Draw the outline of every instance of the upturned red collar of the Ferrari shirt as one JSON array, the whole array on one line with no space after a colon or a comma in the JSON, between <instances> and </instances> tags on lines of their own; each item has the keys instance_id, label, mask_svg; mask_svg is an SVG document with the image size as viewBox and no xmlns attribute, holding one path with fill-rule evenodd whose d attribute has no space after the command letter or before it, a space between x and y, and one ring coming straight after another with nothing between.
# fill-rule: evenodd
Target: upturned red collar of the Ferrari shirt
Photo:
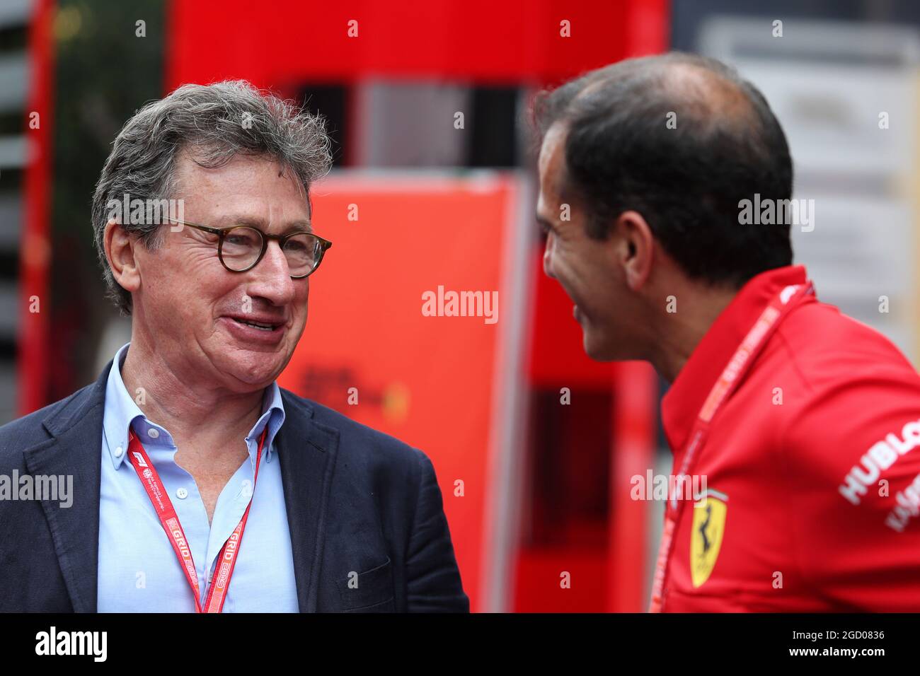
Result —
<instances>
[{"instance_id":1,"label":"upturned red collar of the Ferrari shirt","mask_svg":"<svg viewBox=\"0 0 920 676\"><path fill-rule=\"evenodd\" d=\"M801 265L761 272L742 286L709 327L661 399L661 424L674 453L683 452L709 391L757 317L784 287L805 281Z\"/></svg>"}]
</instances>

